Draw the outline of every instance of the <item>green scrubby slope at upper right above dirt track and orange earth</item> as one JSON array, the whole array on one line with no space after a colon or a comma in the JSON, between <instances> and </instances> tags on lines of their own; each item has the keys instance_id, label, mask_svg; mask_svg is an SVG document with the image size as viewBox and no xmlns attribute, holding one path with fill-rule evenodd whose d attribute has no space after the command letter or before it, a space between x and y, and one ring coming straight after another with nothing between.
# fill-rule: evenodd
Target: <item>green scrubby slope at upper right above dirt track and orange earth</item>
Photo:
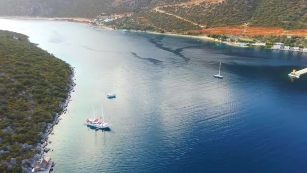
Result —
<instances>
[{"instance_id":1,"label":"green scrubby slope at upper right above dirt track and orange earth","mask_svg":"<svg viewBox=\"0 0 307 173\"><path fill-rule=\"evenodd\" d=\"M307 28L307 2L303 0L228 0L162 10L208 26L250 26Z\"/></svg>"}]
</instances>

